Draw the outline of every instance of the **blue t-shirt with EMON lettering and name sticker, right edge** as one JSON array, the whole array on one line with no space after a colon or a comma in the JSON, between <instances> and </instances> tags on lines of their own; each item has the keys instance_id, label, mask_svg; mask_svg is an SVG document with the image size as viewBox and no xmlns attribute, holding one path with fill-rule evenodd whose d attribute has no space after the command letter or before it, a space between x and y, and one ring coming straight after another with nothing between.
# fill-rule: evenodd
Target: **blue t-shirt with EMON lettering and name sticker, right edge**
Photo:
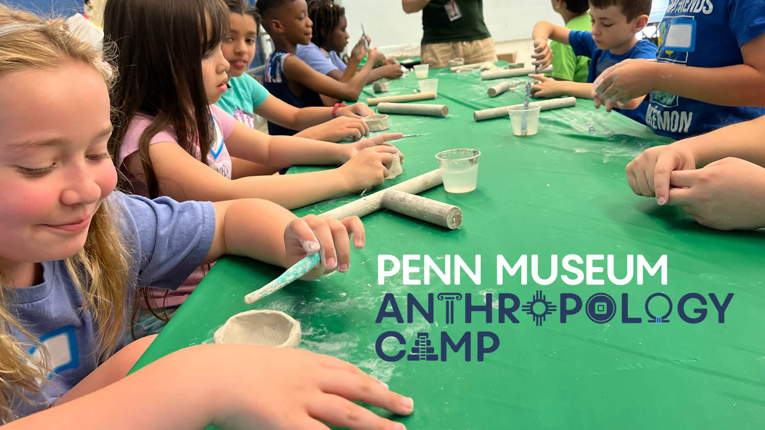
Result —
<instances>
[{"instance_id":1,"label":"blue t-shirt with EMON lettering and name sticker, right edge","mask_svg":"<svg viewBox=\"0 0 765 430\"><path fill-rule=\"evenodd\" d=\"M741 45L763 33L763 0L672 0L659 24L657 59L691 67L744 64ZM649 97L646 124L672 138L700 135L765 115L765 108L719 106L661 91Z\"/></svg>"}]
</instances>

